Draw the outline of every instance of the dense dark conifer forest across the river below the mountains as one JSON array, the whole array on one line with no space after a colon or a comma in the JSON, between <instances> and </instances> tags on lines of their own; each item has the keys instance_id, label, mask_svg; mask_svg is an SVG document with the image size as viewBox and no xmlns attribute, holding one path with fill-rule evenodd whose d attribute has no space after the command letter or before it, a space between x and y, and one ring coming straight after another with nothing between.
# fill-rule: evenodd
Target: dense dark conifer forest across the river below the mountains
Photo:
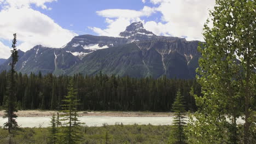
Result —
<instances>
[{"instance_id":1,"label":"dense dark conifer forest across the river below the mountains","mask_svg":"<svg viewBox=\"0 0 256 144\"><path fill-rule=\"evenodd\" d=\"M201 87L196 80L136 79L129 76L54 76L52 74L30 75L16 73L16 102L19 110L42 109L60 110L62 99L67 95L68 82L74 79L80 105L78 110L119 110L119 111L170 111L177 91L184 96L187 110L196 110L193 87L200 95ZM5 101L8 72L0 74L0 106Z\"/></svg>"}]
</instances>

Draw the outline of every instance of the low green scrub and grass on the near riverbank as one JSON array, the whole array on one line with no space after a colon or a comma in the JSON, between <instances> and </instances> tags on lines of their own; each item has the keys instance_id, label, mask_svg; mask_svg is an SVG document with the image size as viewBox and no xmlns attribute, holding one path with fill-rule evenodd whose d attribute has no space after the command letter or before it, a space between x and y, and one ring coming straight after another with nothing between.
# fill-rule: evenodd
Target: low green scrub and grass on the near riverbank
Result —
<instances>
[{"instance_id":1,"label":"low green scrub and grass on the near riverbank","mask_svg":"<svg viewBox=\"0 0 256 144\"><path fill-rule=\"evenodd\" d=\"M166 143L171 126L166 125L115 125L103 124L103 127L80 127L80 143ZM106 136L108 135L108 136ZM0 129L0 143L8 143L8 130ZM11 135L12 143L47 143L49 128L20 128ZM107 137L107 139L106 139Z\"/></svg>"}]
</instances>

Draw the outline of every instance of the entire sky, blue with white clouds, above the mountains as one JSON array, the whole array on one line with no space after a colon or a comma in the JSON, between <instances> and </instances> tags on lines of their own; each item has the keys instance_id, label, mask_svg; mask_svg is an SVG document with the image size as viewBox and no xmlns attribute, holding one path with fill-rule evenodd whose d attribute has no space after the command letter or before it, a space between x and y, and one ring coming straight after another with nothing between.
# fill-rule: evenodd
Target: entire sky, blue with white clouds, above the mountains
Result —
<instances>
[{"instance_id":1,"label":"entire sky, blue with white clouds, above the mountains","mask_svg":"<svg viewBox=\"0 0 256 144\"><path fill-rule=\"evenodd\" d=\"M10 56L13 33L22 51L59 48L75 35L119 37L138 21L156 35L203 40L213 6L214 0L0 0L0 58Z\"/></svg>"}]
</instances>

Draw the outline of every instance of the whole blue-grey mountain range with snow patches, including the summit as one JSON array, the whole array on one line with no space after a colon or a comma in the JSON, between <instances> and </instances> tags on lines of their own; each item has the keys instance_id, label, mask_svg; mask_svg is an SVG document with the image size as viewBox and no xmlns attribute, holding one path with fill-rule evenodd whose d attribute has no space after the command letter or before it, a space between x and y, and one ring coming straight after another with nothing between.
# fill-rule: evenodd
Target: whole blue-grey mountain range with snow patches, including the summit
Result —
<instances>
[{"instance_id":1,"label":"whole blue-grey mountain range with snow patches, including the summit","mask_svg":"<svg viewBox=\"0 0 256 144\"><path fill-rule=\"evenodd\" d=\"M158 36L142 22L131 23L120 37L79 35L60 48L34 46L19 52L16 70L55 75L119 75L193 79L198 67L199 41ZM0 71L8 69L8 59Z\"/></svg>"}]
</instances>

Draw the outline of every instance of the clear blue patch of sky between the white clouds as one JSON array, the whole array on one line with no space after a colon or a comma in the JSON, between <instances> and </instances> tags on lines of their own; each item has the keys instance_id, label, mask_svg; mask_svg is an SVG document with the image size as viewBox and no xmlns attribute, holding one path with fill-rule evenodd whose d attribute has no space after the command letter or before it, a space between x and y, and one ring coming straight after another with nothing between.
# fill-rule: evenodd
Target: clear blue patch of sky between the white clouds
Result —
<instances>
[{"instance_id":1,"label":"clear blue patch of sky between the white clouds","mask_svg":"<svg viewBox=\"0 0 256 144\"><path fill-rule=\"evenodd\" d=\"M70 29L75 33L80 34L93 34L97 35L94 31L88 27L107 28L105 18L98 16L96 11L104 9L132 9L141 10L145 5L154 7L155 4L149 1L143 3L139 0L59 0L57 2L46 3L47 7L52 8L51 10L41 9L32 5L32 8L40 11L45 15L48 15L56 23L61 25L63 28ZM155 13L152 16L144 16L143 20L146 21L158 21L161 19L160 13Z\"/></svg>"}]
</instances>

